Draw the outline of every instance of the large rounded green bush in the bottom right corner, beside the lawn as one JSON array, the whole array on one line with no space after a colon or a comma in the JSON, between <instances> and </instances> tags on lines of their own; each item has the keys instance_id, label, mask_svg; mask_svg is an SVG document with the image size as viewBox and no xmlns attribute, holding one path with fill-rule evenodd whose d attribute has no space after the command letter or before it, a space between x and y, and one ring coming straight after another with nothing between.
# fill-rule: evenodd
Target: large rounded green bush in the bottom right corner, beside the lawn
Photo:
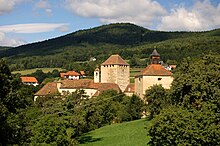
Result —
<instances>
[{"instance_id":1,"label":"large rounded green bush in the bottom right corner, beside the lawn","mask_svg":"<svg viewBox=\"0 0 220 146\"><path fill-rule=\"evenodd\" d=\"M220 145L219 115L205 105L202 110L171 106L163 109L148 127L150 146Z\"/></svg>"}]
</instances>

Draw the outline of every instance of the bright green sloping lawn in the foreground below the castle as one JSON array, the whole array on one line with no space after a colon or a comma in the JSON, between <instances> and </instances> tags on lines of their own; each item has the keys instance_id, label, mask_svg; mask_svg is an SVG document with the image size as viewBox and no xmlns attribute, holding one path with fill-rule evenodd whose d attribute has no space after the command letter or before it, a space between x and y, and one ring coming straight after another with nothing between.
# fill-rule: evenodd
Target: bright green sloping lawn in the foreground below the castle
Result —
<instances>
[{"instance_id":1,"label":"bright green sloping lawn in the foreground below the castle","mask_svg":"<svg viewBox=\"0 0 220 146\"><path fill-rule=\"evenodd\" d=\"M108 125L80 137L80 146L146 146L145 119Z\"/></svg>"}]
</instances>

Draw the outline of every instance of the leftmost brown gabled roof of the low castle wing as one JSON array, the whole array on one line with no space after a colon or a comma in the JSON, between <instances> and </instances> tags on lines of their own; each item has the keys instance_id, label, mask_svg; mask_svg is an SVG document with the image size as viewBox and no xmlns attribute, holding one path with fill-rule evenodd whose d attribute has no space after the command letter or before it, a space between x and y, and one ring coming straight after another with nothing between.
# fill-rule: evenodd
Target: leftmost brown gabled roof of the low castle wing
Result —
<instances>
[{"instance_id":1,"label":"leftmost brown gabled roof of the low castle wing","mask_svg":"<svg viewBox=\"0 0 220 146\"><path fill-rule=\"evenodd\" d=\"M55 94L55 93L58 93L57 84L55 82L48 82L34 95L35 96L46 96L46 95Z\"/></svg>"}]
</instances>

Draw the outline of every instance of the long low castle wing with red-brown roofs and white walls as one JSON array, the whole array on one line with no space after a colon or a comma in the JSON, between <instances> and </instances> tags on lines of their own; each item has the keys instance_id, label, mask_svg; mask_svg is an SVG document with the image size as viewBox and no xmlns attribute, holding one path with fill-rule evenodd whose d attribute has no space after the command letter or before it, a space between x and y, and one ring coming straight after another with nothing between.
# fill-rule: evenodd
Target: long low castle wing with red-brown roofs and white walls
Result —
<instances>
[{"instance_id":1,"label":"long low castle wing with red-brown roofs and white walls","mask_svg":"<svg viewBox=\"0 0 220 146\"><path fill-rule=\"evenodd\" d=\"M73 93L76 90L84 90L84 95L87 95L89 98L98 96L106 90L116 90L118 93L121 92L119 86L115 83L95 83L92 79L60 80L58 82L47 83L35 94L34 100L36 101L39 96L51 94L65 95Z\"/></svg>"}]
</instances>

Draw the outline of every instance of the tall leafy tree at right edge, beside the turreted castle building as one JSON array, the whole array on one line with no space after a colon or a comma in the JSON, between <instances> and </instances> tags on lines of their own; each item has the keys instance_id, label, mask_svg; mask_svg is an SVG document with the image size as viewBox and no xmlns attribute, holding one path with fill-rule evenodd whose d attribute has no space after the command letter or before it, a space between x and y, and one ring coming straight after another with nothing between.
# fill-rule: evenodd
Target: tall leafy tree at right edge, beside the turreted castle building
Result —
<instances>
[{"instance_id":1,"label":"tall leafy tree at right edge, beside the turreted castle building","mask_svg":"<svg viewBox=\"0 0 220 146\"><path fill-rule=\"evenodd\" d=\"M187 58L178 68L171 88L174 104L201 108L204 102L212 102L220 107L220 56Z\"/></svg>"}]
</instances>

